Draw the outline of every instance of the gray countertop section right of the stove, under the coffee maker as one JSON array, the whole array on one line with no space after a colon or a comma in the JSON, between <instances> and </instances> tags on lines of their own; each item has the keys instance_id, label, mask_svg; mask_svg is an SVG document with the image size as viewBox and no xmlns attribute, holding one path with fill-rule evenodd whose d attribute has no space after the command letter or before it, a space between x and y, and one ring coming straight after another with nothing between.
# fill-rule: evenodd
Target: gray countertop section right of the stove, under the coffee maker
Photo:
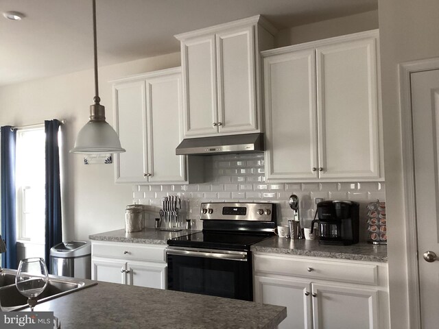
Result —
<instances>
[{"instance_id":1,"label":"gray countertop section right of the stove, under the coffee maker","mask_svg":"<svg viewBox=\"0 0 439 329\"><path fill-rule=\"evenodd\" d=\"M387 245L372 245L369 243L357 243L355 245L319 245L318 240L292 240L272 236L269 239L252 245L252 252L387 263Z\"/></svg>"}]
</instances>

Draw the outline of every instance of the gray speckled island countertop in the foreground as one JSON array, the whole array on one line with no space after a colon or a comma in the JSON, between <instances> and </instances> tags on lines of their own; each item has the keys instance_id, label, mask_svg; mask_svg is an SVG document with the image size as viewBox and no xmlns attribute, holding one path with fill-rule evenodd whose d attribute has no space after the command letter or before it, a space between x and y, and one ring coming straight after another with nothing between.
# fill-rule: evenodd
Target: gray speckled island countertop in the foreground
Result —
<instances>
[{"instance_id":1,"label":"gray speckled island countertop in the foreground","mask_svg":"<svg viewBox=\"0 0 439 329\"><path fill-rule=\"evenodd\" d=\"M54 312L62 329L275 329L287 316L283 306L108 282L37 304L34 310Z\"/></svg>"}]
</instances>

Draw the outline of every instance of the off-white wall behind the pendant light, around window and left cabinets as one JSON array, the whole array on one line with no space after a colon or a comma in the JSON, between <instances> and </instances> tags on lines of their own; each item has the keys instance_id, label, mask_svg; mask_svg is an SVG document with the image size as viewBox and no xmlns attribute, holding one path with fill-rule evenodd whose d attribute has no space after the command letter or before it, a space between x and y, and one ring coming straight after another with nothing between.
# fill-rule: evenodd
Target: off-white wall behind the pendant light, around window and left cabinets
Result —
<instances>
[{"instance_id":1,"label":"off-white wall behind the pendant light, around window and left cabinets","mask_svg":"<svg viewBox=\"0 0 439 329\"><path fill-rule=\"evenodd\" d=\"M180 66L180 53L99 68L99 96L108 123L113 122L109 80L174 66ZM75 135L88 121L94 93L92 70L0 88L0 125L67 120L64 239L88 239L89 234L122 228L125 207L132 202L132 186L114 183L113 164L84 165L82 156L68 154Z\"/></svg>"}]
</instances>

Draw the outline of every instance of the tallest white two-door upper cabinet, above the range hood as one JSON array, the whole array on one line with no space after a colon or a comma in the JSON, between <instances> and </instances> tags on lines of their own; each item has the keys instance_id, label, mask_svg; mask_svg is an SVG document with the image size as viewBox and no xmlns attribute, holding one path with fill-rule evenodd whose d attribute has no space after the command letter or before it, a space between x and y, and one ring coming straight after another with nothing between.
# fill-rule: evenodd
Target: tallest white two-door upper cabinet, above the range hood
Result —
<instances>
[{"instance_id":1,"label":"tallest white two-door upper cabinet, above the range hood","mask_svg":"<svg viewBox=\"0 0 439 329\"><path fill-rule=\"evenodd\" d=\"M176 36L185 137L261 132L259 51L273 47L275 32L254 16Z\"/></svg>"}]
</instances>

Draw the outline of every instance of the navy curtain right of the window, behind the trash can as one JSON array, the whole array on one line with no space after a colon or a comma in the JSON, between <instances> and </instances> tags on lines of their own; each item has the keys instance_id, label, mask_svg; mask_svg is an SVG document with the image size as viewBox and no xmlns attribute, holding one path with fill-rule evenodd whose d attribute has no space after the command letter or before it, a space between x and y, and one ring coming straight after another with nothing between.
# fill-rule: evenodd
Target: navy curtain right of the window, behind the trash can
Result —
<instances>
[{"instance_id":1,"label":"navy curtain right of the window, behind the trash can","mask_svg":"<svg viewBox=\"0 0 439 329\"><path fill-rule=\"evenodd\" d=\"M45 260L49 268L50 248L62 242L60 150L58 132L60 121L45 121L46 133L46 236Z\"/></svg>"}]
</instances>

